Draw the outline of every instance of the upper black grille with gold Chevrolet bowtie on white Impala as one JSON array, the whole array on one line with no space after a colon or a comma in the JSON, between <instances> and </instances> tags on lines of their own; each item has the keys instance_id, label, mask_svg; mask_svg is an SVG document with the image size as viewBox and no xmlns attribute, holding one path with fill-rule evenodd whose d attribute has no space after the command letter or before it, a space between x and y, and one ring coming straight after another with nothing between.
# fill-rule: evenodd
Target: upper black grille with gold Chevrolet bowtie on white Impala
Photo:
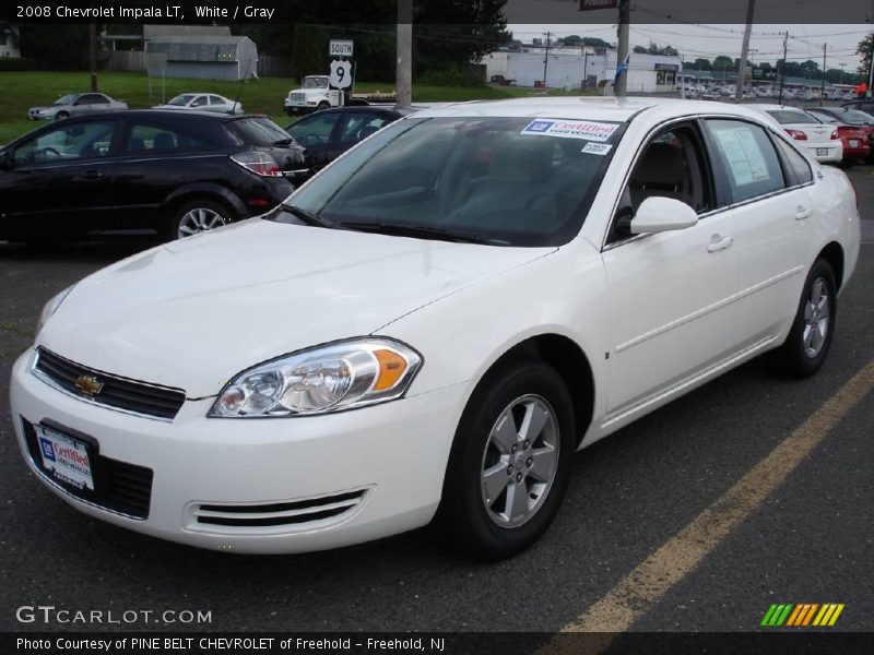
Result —
<instances>
[{"instance_id":1,"label":"upper black grille with gold Chevrolet bowtie on white Impala","mask_svg":"<svg viewBox=\"0 0 874 655\"><path fill-rule=\"evenodd\" d=\"M64 359L46 348L37 350L34 371L85 401L134 414L173 419L185 403L185 391L181 389L160 386L105 373ZM81 386L76 385L76 380L83 376L95 379L103 386L94 394L83 392Z\"/></svg>"}]
</instances>

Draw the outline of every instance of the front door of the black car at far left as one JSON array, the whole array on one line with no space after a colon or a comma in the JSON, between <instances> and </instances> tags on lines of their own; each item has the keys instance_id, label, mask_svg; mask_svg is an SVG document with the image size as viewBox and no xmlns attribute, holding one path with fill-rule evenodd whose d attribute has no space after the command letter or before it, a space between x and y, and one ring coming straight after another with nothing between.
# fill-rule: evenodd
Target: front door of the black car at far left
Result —
<instances>
[{"instance_id":1,"label":"front door of the black car at far left","mask_svg":"<svg viewBox=\"0 0 874 655\"><path fill-rule=\"evenodd\" d=\"M72 119L12 145L0 174L3 231L70 235L101 229L113 207L118 121Z\"/></svg>"}]
</instances>

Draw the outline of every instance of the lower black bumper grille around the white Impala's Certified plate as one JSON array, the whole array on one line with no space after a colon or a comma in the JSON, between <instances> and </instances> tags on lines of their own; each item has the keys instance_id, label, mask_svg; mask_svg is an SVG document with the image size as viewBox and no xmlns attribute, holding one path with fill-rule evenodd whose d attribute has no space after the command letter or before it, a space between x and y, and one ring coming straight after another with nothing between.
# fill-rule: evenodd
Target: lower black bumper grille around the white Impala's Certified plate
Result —
<instances>
[{"instance_id":1,"label":"lower black bumper grille around the white Impala's Certified plate","mask_svg":"<svg viewBox=\"0 0 874 655\"><path fill-rule=\"evenodd\" d=\"M79 489L56 479L52 477L51 472L43 466L39 440L36 437L34 425L24 417L22 417L21 422L31 460L54 484L71 496L106 510L133 519L144 520L149 517L149 508L152 502L153 472L151 468L104 457L97 452L96 456L92 457L92 475L95 489L93 491L91 489ZM60 430L69 432L63 428Z\"/></svg>"}]
</instances>

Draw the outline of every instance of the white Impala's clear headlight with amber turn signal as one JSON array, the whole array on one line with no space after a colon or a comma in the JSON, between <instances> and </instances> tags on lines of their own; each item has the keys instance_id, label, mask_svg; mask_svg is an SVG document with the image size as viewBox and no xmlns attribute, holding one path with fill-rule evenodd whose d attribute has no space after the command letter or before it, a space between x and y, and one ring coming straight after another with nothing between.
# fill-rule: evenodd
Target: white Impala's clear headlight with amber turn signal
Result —
<instances>
[{"instance_id":1,"label":"white Impala's clear headlight with amber turn signal","mask_svg":"<svg viewBox=\"0 0 874 655\"><path fill-rule=\"evenodd\" d=\"M319 346L243 371L209 416L299 416L383 403L403 395L420 366L418 353L386 338Z\"/></svg>"}]
</instances>

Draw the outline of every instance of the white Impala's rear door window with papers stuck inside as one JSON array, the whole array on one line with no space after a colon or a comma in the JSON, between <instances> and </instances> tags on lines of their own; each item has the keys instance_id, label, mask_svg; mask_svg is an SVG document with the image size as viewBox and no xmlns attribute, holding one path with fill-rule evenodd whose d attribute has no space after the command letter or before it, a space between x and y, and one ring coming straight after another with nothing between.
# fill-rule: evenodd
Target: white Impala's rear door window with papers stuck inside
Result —
<instances>
[{"instance_id":1,"label":"white Impala's rear door window with papers stuck inside","mask_svg":"<svg viewBox=\"0 0 874 655\"><path fill-rule=\"evenodd\" d=\"M707 124L725 169L733 202L786 188L777 151L763 128L722 119L708 120Z\"/></svg>"}]
</instances>

